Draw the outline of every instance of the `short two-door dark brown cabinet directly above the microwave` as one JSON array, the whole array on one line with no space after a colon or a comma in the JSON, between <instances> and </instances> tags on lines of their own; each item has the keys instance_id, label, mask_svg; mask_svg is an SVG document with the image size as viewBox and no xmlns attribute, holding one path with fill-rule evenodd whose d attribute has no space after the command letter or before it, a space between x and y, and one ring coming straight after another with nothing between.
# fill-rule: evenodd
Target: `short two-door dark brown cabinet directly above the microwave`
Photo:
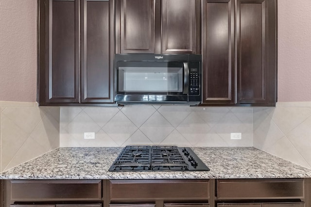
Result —
<instances>
[{"instance_id":1,"label":"short two-door dark brown cabinet directly above the microwave","mask_svg":"<svg viewBox=\"0 0 311 207\"><path fill-rule=\"evenodd\" d=\"M116 0L116 53L200 54L200 0Z\"/></svg>"}]
</instances>

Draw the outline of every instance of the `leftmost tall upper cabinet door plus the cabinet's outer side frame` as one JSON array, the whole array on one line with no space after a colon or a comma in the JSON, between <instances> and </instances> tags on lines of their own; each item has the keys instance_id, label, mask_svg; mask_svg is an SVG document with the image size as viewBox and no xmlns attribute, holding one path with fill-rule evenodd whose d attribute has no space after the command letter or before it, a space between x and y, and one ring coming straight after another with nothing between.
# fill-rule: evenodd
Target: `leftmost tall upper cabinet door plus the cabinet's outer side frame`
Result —
<instances>
[{"instance_id":1,"label":"leftmost tall upper cabinet door plus the cabinet's outer side frame","mask_svg":"<svg viewBox=\"0 0 311 207\"><path fill-rule=\"evenodd\" d=\"M80 0L41 0L39 4L39 103L78 103Z\"/></svg>"}]
</instances>

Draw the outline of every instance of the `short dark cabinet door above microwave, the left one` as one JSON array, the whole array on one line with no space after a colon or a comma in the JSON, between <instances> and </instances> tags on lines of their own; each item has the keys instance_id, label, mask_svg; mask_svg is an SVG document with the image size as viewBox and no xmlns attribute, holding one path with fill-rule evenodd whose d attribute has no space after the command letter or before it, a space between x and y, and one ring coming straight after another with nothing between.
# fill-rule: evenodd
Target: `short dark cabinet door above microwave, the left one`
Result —
<instances>
[{"instance_id":1,"label":"short dark cabinet door above microwave, the left one","mask_svg":"<svg viewBox=\"0 0 311 207\"><path fill-rule=\"evenodd\" d=\"M116 53L155 53L155 0L116 0Z\"/></svg>"}]
</instances>

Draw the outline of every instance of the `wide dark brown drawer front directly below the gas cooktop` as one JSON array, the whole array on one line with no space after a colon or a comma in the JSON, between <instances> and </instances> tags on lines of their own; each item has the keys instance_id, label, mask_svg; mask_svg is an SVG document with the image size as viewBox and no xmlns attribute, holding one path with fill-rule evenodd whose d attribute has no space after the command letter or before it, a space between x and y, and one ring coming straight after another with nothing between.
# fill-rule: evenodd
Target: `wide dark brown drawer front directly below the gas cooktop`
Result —
<instances>
[{"instance_id":1,"label":"wide dark brown drawer front directly below the gas cooktop","mask_svg":"<svg viewBox=\"0 0 311 207\"><path fill-rule=\"evenodd\" d=\"M208 198L208 180L110 180L112 201Z\"/></svg>"}]
</instances>

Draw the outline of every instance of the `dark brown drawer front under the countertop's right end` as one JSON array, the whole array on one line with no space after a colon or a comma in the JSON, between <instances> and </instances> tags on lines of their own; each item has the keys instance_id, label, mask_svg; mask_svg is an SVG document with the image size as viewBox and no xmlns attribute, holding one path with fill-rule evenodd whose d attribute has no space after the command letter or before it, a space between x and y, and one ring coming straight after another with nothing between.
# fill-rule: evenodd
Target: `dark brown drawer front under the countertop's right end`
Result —
<instances>
[{"instance_id":1,"label":"dark brown drawer front under the countertop's right end","mask_svg":"<svg viewBox=\"0 0 311 207\"><path fill-rule=\"evenodd\" d=\"M218 199L301 199L304 194L304 179L217 180Z\"/></svg>"}]
</instances>

